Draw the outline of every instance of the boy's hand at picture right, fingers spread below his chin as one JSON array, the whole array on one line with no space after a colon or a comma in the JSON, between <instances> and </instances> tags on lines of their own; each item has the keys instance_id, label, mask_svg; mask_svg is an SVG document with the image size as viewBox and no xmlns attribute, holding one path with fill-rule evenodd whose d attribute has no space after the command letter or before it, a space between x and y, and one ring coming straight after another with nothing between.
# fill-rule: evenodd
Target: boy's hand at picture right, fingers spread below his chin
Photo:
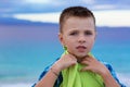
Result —
<instances>
[{"instance_id":1,"label":"boy's hand at picture right, fingers spread below his chin","mask_svg":"<svg viewBox=\"0 0 130 87\"><path fill-rule=\"evenodd\" d=\"M81 64L86 65L81 71L91 71L93 73L100 74L101 76L109 74L107 67L92 57L83 59Z\"/></svg>"}]
</instances>

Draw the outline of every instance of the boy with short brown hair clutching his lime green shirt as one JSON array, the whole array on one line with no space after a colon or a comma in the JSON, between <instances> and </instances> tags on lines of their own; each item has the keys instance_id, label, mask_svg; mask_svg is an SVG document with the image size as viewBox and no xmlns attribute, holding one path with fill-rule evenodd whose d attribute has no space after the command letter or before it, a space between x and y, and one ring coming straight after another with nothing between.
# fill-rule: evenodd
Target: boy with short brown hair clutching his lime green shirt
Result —
<instances>
[{"instance_id":1,"label":"boy with short brown hair clutching his lime green shirt","mask_svg":"<svg viewBox=\"0 0 130 87\"><path fill-rule=\"evenodd\" d=\"M65 9L58 38L65 52L41 74L34 87L125 87L109 64L91 53L96 37L95 17L83 7Z\"/></svg>"}]
</instances>

